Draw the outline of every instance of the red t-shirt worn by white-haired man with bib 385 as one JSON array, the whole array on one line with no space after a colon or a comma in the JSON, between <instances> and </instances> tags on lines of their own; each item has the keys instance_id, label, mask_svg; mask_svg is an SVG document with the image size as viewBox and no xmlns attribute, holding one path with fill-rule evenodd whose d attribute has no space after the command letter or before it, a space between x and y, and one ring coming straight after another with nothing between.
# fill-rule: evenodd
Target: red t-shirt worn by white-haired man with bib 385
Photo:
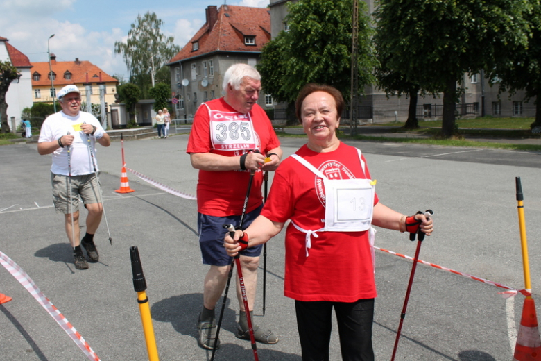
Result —
<instances>
[{"instance_id":1,"label":"red t-shirt worn by white-haired man with bib 385","mask_svg":"<svg viewBox=\"0 0 541 361\"><path fill-rule=\"evenodd\" d=\"M219 146L216 140L212 140L211 127L212 117L216 119L232 119L242 117L243 121L250 121L254 137L250 137L252 142L246 144L246 149L228 151L223 150L225 146ZM222 125L222 124L221 124ZM223 135L228 135L231 129L226 129ZM241 139L242 129L234 129L234 136ZM220 136L222 133L214 132L214 135ZM241 156L248 149L253 147L259 149L261 153L266 154L271 149L280 146L271 121L266 112L257 104L253 106L248 115L243 115L227 104L223 98L214 99L202 103L194 117L194 125L191 128L188 140L187 153L217 153L223 156ZM216 149L218 148L218 149ZM219 149L222 148L222 149ZM198 212L205 215L224 217L230 215L241 215L248 181L250 180L250 171L199 171L199 180L197 185L197 205ZM259 170L255 173L250 190L247 212L255 210L262 202L261 183L263 175Z\"/></svg>"}]
</instances>

